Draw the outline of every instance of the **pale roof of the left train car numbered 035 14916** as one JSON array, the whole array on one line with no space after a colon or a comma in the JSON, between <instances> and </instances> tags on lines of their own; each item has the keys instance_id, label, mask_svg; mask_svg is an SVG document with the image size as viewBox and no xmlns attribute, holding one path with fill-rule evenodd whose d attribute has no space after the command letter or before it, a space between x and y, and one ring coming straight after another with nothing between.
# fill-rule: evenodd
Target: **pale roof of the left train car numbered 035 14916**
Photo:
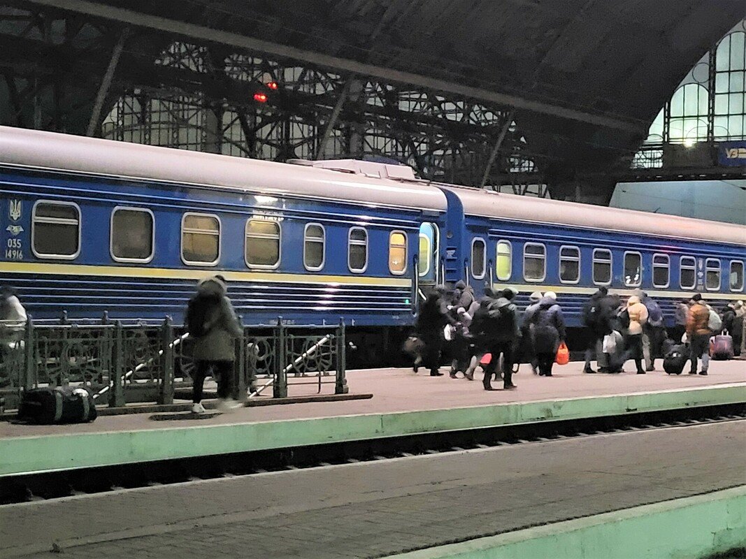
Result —
<instances>
[{"instance_id":1,"label":"pale roof of the left train car numbered 035 14916","mask_svg":"<svg viewBox=\"0 0 746 559\"><path fill-rule=\"evenodd\" d=\"M13 127L0 127L0 163L372 206L439 211L446 207L445 195L433 186L372 180L354 171L342 173Z\"/></svg>"}]
</instances>

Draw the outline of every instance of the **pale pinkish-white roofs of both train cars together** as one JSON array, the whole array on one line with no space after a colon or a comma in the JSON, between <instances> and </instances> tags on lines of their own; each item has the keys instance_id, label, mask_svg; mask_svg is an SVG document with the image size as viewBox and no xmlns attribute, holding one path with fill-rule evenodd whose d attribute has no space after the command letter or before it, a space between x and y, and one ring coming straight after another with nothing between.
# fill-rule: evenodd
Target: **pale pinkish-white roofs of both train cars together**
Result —
<instances>
[{"instance_id":1,"label":"pale pinkish-white roofs of both train cars together","mask_svg":"<svg viewBox=\"0 0 746 559\"><path fill-rule=\"evenodd\" d=\"M409 168L383 163L336 160L287 165L0 126L2 163L256 194L445 211L445 196L438 186L457 193L467 215L746 244L746 227L739 225L435 185L413 180Z\"/></svg>"}]
</instances>

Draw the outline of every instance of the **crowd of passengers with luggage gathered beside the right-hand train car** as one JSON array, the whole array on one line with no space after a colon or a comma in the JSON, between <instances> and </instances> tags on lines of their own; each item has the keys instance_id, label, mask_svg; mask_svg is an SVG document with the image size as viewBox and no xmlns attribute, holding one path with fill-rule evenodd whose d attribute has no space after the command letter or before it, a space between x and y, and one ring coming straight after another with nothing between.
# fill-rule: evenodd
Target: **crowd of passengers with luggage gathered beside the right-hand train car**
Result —
<instances>
[{"instance_id":1,"label":"crowd of passengers with luggage gathered beside the right-hand train car","mask_svg":"<svg viewBox=\"0 0 746 559\"><path fill-rule=\"evenodd\" d=\"M534 374L552 376L557 350L566 341L561 302L553 291L530 294L530 303L520 312L513 301L518 290L486 288L479 300L463 281L454 288L435 288L421 305L415 333L405 350L415 359L414 370L439 371L442 356L453 356L451 378L462 374L474 380L480 364L482 384L493 390L492 379L502 379L505 390L514 390L514 365L529 363ZM624 363L634 361L636 373L656 370L656 358L674 349L685 352L691 363L689 374L706 375L710 339L730 332L733 351L739 355L746 308L742 301L715 311L695 293L676 305L675 326L666 329L663 313L655 300L641 289L622 300L602 287L583 304L582 319L589 345L584 373L623 373ZM485 356L489 354L488 358ZM592 368L595 356L598 371ZM488 361L489 362L486 362Z\"/></svg>"}]
</instances>

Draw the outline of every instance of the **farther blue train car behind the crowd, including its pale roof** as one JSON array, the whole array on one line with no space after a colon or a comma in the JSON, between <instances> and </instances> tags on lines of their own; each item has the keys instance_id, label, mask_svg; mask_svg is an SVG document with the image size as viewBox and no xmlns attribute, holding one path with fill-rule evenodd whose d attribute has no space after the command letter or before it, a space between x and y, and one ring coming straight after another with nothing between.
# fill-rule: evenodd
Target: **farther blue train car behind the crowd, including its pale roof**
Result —
<instances>
[{"instance_id":1,"label":"farther blue train car behind the crowd, including its pale roof","mask_svg":"<svg viewBox=\"0 0 746 559\"><path fill-rule=\"evenodd\" d=\"M601 286L658 300L668 326L674 303L700 291L720 308L744 297L746 228L602 206L443 187L448 247L459 265L447 280L514 285L525 306L532 291L555 291L570 326ZM451 203L457 198L457 203Z\"/></svg>"}]
</instances>

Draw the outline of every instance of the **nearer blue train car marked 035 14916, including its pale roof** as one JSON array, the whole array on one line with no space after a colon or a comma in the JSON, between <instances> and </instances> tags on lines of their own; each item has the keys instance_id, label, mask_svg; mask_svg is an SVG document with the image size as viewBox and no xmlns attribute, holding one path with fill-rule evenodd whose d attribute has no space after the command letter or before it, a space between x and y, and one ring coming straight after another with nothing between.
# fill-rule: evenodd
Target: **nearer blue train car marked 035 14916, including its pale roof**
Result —
<instances>
[{"instance_id":1,"label":"nearer blue train car marked 035 14916, including its pale roof","mask_svg":"<svg viewBox=\"0 0 746 559\"><path fill-rule=\"evenodd\" d=\"M419 229L445 215L387 178L13 128L0 189L2 282L37 320L178 322L222 274L246 324L406 326Z\"/></svg>"}]
</instances>

